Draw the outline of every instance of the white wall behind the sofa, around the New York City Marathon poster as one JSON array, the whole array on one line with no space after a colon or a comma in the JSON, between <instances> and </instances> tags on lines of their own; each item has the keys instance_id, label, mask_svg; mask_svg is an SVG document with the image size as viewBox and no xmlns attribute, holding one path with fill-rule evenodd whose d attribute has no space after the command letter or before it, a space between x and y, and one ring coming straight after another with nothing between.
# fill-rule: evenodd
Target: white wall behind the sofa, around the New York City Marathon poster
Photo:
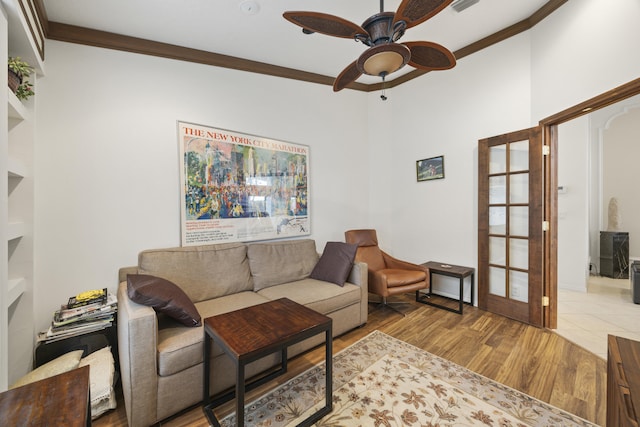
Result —
<instances>
[{"instance_id":1,"label":"white wall behind the sofa, around the New York City Marathon poster","mask_svg":"<svg viewBox=\"0 0 640 427\"><path fill-rule=\"evenodd\" d=\"M366 95L68 43L37 95L36 327L76 293L115 290L142 249L179 246L176 121L310 146L319 251L367 215Z\"/></svg>"}]
</instances>

